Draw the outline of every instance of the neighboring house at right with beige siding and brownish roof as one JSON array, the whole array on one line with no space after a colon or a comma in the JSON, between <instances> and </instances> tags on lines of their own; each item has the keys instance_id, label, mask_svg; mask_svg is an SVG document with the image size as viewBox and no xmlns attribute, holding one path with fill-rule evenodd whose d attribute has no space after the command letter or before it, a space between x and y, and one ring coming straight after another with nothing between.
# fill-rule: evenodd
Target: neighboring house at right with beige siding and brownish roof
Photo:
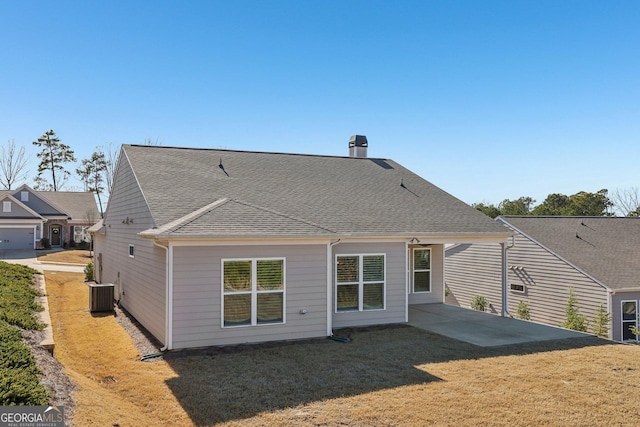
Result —
<instances>
[{"instance_id":1,"label":"neighboring house at right with beige siding and brownish roof","mask_svg":"<svg viewBox=\"0 0 640 427\"><path fill-rule=\"evenodd\" d=\"M633 341L640 312L640 218L503 216L497 222L517 233L507 250L508 312L520 301L531 320L560 326L569 289L590 328L600 304L611 313L610 338ZM464 244L446 250L450 298L469 306L485 296L501 312L501 250L498 245Z\"/></svg>"}]
</instances>

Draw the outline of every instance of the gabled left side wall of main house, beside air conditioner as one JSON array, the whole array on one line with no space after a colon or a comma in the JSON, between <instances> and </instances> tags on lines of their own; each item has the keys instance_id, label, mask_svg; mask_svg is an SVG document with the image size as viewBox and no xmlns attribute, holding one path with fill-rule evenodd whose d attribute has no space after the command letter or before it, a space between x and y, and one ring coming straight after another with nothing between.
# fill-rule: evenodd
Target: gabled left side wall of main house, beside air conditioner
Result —
<instances>
[{"instance_id":1,"label":"gabled left side wall of main house, beside air conditioner","mask_svg":"<svg viewBox=\"0 0 640 427\"><path fill-rule=\"evenodd\" d=\"M118 165L104 225L102 281L116 284L122 306L165 343L165 250L137 236L155 224L125 156ZM130 244L134 258L129 256Z\"/></svg>"}]
</instances>

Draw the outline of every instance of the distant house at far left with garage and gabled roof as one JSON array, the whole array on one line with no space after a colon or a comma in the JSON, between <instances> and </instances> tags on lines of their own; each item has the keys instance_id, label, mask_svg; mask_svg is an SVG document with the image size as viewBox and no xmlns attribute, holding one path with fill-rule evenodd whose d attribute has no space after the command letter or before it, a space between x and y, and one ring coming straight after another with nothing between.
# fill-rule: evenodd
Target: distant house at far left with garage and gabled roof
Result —
<instances>
[{"instance_id":1,"label":"distant house at far left with garage and gabled roof","mask_svg":"<svg viewBox=\"0 0 640 427\"><path fill-rule=\"evenodd\" d=\"M90 239L88 227L100 219L90 192L36 191L28 185L0 191L0 249L36 249L46 238L52 247Z\"/></svg>"}]
</instances>

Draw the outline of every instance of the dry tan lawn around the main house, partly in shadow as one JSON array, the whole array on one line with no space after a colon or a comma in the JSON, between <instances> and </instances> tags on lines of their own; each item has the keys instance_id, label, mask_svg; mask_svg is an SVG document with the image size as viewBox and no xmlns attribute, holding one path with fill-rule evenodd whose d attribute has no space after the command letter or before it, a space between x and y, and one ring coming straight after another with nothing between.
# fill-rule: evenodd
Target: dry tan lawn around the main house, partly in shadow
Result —
<instances>
[{"instance_id":1,"label":"dry tan lawn around the main house, partly in shadow","mask_svg":"<svg viewBox=\"0 0 640 427\"><path fill-rule=\"evenodd\" d=\"M113 316L88 312L81 274L45 274L55 355L79 387L74 425L640 424L640 346L491 349L399 327L141 362Z\"/></svg>"}]
</instances>

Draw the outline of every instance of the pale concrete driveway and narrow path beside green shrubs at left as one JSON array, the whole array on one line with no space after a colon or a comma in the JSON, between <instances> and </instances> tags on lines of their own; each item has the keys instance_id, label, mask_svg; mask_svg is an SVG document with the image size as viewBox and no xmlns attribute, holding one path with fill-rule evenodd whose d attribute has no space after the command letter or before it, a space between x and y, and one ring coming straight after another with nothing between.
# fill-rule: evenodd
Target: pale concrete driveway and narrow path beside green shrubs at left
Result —
<instances>
[{"instance_id":1,"label":"pale concrete driveway and narrow path beside green shrubs at left","mask_svg":"<svg viewBox=\"0 0 640 427\"><path fill-rule=\"evenodd\" d=\"M55 250L53 250L55 251ZM49 251L49 252L53 252ZM0 261L8 262L10 264L22 264L43 272L47 271L66 271L72 273L84 273L84 266L78 265L65 265L55 263L41 263L38 261L35 250L0 250ZM53 328L51 327L51 315L49 313L49 300L47 298L47 286L44 280L44 275L36 276L36 286L43 294L41 297L36 297L36 301L40 304L44 310L38 313L38 319L40 322L47 325L44 328L44 338L40 345L46 348L49 352L53 353L55 342L53 341Z\"/></svg>"}]
</instances>

